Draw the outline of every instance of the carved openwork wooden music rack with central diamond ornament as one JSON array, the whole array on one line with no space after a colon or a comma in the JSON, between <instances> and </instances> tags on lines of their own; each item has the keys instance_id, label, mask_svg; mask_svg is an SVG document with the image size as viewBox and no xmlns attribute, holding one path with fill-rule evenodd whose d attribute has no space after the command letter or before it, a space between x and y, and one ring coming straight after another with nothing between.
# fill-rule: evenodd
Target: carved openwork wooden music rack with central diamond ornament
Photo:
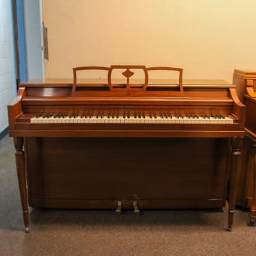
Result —
<instances>
[{"instance_id":1,"label":"carved openwork wooden music rack with central diamond ornament","mask_svg":"<svg viewBox=\"0 0 256 256\"><path fill-rule=\"evenodd\" d=\"M122 75L126 77L126 84L112 83L113 70L125 69ZM130 83L130 77L134 75L132 70L143 70L145 81L143 84ZM108 71L108 90L102 88L102 92L97 92L97 96L152 96L155 97L184 97L184 90L182 86L182 68L172 67L149 67L146 68L143 65L112 65L111 67L76 67L73 68L74 83L72 88L72 96L90 96L95 93L92 83L77 84L77 71L81 70L107 70ZM154 92L148 88L148 71L152 70L168 70L179 72L179 83L169 86L161 87L157 91L154 88ZM91 90L90 90L91 89Z\"/></svg>"}]
</instances>

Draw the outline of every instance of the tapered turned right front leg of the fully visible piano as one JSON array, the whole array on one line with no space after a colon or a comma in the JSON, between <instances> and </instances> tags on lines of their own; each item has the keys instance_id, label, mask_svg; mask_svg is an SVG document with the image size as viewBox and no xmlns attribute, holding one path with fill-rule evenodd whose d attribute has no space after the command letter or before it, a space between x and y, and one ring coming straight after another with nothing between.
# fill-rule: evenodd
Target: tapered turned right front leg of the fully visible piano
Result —
<instances>
[{"instance_id":1,"label":"tapered turned right front leg of the fully visible piano","mask_svg":"<svg viewBox=\"0 0 256 256\"><path fill-rule=\"evenodd\" d=\"M231 164L229 176L229 207L228 207L228 231L232 230L236 204L236 178L239 166L239 156L241 155L242 138L232 138Z\"/></svg>"}]
</instances>

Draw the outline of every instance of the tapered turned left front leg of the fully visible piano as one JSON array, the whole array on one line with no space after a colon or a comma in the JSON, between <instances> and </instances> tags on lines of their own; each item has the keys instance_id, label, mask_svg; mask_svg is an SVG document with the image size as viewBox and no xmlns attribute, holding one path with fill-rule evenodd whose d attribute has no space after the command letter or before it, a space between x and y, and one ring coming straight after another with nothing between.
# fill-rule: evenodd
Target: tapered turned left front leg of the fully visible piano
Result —
<instances>
[{"instance_id":1,"label":"tapered turned left front leg of the fully visible piano","mask_svg":"<svg viewBox=\"0 0 256 256\"><path fill-rule=\"evenodd\" d=\"M15 159L16 159L17 175L19 180L20 200L22 205L24 225L26 228L26 232L29 232L28 189L27 189L27 180L26 180L26 172L25 172L23 138L13 138L13 143L16 150Z\"/></svg>"}]
</instances>

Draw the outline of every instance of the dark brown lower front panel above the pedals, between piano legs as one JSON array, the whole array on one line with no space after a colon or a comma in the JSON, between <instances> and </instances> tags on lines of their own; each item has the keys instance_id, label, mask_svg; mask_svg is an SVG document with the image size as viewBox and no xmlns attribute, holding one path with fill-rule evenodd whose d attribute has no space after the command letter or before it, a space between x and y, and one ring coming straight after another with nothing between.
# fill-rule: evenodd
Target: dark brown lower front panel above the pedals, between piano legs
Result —
<instances>
[{"instance_id":1,"label":"dark brown lower front panel above the pedals, between piano legs","mask_svg":"<svg viewBox=\"0 0 256 256\"><path fill-rule=\"evenodd\" d=\"M147 209L223 207L228 141L27 138L30 203L108 209L116 200L128 208L139 200Z\"/></svg>"}]
</instances>

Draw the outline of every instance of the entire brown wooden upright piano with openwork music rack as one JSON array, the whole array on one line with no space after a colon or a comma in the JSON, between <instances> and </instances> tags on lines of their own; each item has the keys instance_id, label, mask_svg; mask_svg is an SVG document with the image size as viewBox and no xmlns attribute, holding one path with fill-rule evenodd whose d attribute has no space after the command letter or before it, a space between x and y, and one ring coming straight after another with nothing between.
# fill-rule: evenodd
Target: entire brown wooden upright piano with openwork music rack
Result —
<instances>
[{"instance_id":1,"label":"entire brown wooden upright piano with openwork music rack","mask_svg":"<svg viewBox=\"0 0 256 256\"><path fill-rule=\"evenodd\" d=\"M77 79L92 70L106 82ZM179 79L152 79L157 70ZM21 84L8 115L27 232L29 205L221 208L227 186L231 230L245 122L234 85L182 81L180 68L81 67L71 83Z\"/></svg>"}]
</instances>

